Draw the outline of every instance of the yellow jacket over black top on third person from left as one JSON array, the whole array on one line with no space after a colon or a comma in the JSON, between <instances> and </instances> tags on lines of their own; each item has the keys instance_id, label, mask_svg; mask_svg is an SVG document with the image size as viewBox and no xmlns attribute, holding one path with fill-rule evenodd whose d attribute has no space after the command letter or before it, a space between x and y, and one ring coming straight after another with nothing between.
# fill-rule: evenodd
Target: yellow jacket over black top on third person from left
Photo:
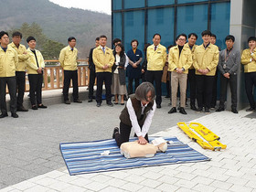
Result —
<instances>
[{"instance_id":1,"label":"yellow jacket over black top on third person from left","mask_svg":"<svg viewBox=\"0 0 256 192\"><path fill-rule=\"evenodd\" d=\"M27 48L27 54L29 55L29 59L27 60L27 73L28 74L38 74L37 73L37 62L39 65L39 68L45 67L45 61L40 51L36 50L37 60L34 55L34 53L30 50L30 48Z\"/></svg>"}]
</instances>

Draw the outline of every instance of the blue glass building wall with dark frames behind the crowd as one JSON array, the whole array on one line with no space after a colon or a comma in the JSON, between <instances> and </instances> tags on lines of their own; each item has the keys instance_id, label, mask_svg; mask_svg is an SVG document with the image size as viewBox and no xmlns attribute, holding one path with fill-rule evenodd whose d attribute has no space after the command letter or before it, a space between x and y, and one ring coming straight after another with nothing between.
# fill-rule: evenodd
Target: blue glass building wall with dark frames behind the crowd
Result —
<instances>
[{"instance_id":1,"label":"blue glass building wall with dark frames behind the crowd","mask_svg":"<svg viewBox=\"0 0 256 192\"><path fill-rule=\"evenodd\" d=\"M225 48L229 13L229 0L112 0L112 39L123 39L127 50L136 38L143 49L159 33L161 44L168 47L178 34L195 32L201 44L200 33L210 29L218 37L217 45Z\"/></svg>"}]
</instances>

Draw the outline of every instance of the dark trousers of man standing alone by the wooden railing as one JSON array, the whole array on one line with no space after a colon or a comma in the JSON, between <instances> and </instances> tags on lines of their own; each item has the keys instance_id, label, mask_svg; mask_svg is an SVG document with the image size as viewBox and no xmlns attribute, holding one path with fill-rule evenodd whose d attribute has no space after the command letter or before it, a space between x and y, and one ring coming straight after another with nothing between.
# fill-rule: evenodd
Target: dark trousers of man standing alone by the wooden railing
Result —
<instances>
[{"instance_id":1,"label":"dark trousers of man standing alone by the wooden railing","mask_svg":"<svg viewBox=\"0 0 256 192\"><path fill-rule=\"evenodd\" d=\"M64 101L69 100L69 86L70 80L72 80L73 86L73 101L79 99L79 82L78 82L78 70L64 70L64 85L63 85L63 96Z\"/></svg>"}]
</instances>

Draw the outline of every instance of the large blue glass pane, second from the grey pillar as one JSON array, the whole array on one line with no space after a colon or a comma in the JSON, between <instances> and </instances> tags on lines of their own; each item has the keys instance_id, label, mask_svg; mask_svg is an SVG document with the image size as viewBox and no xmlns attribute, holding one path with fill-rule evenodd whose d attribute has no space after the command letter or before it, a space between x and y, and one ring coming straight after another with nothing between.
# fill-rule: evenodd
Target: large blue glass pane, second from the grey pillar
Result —
<instances>
[{"instance_id":1,"label":"large blue glass pane, second from the grey pillar","mask_svg":"<svg viewBox=\"0 0 256 192\"><path fill-rule=\"evenodd\" d=\"M208 5L178 6L176 27L176 35L196 33L197 45L201 44L201 32L208 28Z\"/></svg>"}]
</instances>

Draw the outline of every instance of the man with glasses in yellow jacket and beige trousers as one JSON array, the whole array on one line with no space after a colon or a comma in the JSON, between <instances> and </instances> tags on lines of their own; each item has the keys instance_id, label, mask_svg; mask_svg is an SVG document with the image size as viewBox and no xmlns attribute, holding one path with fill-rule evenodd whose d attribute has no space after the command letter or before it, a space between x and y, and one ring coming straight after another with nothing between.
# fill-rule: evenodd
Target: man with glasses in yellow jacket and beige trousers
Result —
<instances>
[{"instance_id":1,"label":"man with glasses in yellow jacket and beige trousers","mask_svg":"<svg viewBox=\"0 0 256 192\"><path fill-rule=\"evenodd\" d=\"M176 37L177 45L170 48L168 55L168 71L171 71L172 87L172 109L168 113L176 112L176 92L179 86L180 90L180 109L179 112L187 114L185 111L187 73L192 65L192 54L189 48L185 47L187 40L186 34L180 34Z\"/></svg>"}]
</instances>

